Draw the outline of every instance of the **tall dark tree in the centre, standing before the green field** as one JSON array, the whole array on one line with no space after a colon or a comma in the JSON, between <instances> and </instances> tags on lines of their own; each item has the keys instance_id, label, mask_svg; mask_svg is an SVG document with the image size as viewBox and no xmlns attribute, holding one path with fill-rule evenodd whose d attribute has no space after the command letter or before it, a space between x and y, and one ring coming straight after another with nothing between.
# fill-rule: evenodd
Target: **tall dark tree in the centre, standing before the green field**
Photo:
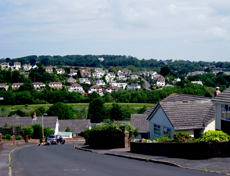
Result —
<instances>
[{"instance_id":1,"label":"tall dark tree in the centre, standing before the green field","mask_svg":"<svg viewBox=\"0 0 230 176\"><path fill-rule=\"evenodd\" d=\"M104 107L104 99L99 97L89 104L88 119L91 120L91 123L103 122L105 119L106 109Z\"/></svg>"}]
</instances>

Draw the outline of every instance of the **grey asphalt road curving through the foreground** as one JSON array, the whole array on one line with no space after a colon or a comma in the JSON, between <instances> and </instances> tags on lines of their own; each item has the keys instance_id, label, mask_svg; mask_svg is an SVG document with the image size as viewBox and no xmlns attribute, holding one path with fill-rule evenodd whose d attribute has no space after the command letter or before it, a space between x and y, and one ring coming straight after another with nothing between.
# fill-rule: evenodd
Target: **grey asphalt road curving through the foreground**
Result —
<instances>
[{"instance_id":1,"label":"grey asphalt road curving through the foreground","mask_svg":"<svg viewBox=\"0 0 230 176\"><path fill-rule=\"evenodd\" d=\"M217 173L95 154L72 144L33 146L12 154L14 176L208 176Z\"/></svg>"}]
</instances>

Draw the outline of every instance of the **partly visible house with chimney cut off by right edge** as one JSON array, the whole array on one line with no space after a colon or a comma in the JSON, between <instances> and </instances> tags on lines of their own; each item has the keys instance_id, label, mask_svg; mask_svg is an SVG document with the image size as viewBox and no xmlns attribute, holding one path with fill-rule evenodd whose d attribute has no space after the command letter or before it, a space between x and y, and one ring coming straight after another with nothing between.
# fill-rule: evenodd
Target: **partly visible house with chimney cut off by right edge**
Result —
<instances>
[{"instance_id":1,"label":"partly visible house with chimney cut off by right edge","mask_svg":"<svg viewBox=\"0 0 230 176\"><path fill-rule=\"evenodd\" d=\"M217 88L215 94L217 96L212 99L215 107L215 130L222 130L230 135L230 87L222 93Z\"/></svg>"}]
</instances>

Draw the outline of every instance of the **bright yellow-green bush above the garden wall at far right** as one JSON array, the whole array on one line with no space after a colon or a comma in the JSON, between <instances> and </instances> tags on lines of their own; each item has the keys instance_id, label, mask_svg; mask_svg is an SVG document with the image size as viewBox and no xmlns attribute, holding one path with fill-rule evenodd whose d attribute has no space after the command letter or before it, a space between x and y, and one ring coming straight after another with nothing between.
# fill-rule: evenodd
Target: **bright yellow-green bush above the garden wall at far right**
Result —
<instances>
[{"instance_id":1,"label":"bright yellow-green bush above the garden wall at far right","mask_svg":"<svg viewBox=\"0 0 230 176\"><path fill-rule=\"evenodd\" d=\"M224 133L223 131L206 131L203 133L198 142L220 142L220 141L229 141L230 136Z\"/></svg>"}]
</instances>

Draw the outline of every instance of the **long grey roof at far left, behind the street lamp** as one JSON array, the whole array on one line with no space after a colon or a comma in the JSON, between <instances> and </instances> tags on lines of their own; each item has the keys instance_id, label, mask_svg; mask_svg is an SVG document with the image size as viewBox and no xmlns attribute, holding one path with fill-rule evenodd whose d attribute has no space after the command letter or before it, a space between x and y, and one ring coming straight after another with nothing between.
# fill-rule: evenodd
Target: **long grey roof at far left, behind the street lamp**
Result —
<instances>
[{"instance_id":1,"label":"long grey roof at far left, behind the street lamp","mask_svg":"<svg viewBox=\"0 0 230 176\"><path fill-rule=\"evenodd\" d=\"M49 127L52 130L55 130L57 121L57 116L43 116L43 124L44 127ZM42 117L38 117L36 120L33 120L32 117L21 117L19 115L13 115L11 117L0 117L0 126L21 126L21 128L25 126L32 126L35 124L42 125Z\"/></svg>"}]
</instances>

